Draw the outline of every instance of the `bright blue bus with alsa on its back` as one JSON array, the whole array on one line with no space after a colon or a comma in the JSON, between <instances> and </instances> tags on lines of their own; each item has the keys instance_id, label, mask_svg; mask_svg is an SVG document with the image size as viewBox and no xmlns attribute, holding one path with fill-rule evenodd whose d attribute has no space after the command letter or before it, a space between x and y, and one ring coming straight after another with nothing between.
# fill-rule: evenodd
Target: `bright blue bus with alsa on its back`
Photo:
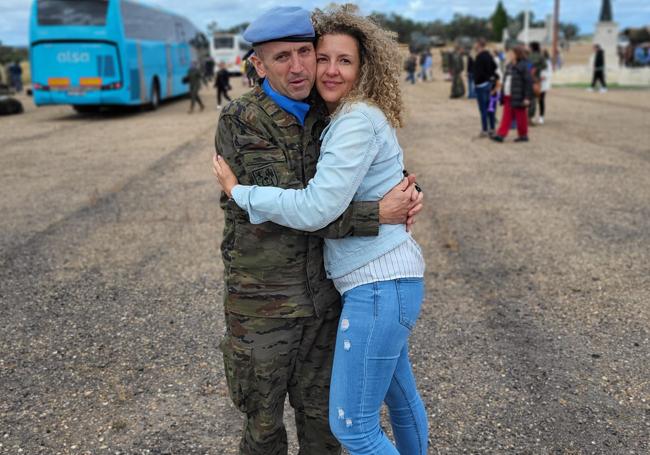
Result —
<instances>
[{"instance_id":1,"label":"bright blue bus with alsa on its back","mask_svg":"<svg viewBox=\"0 0 650 455\"><path fill-rule=\"evenodd\" d=\"M209 52L192 23L133 0L35 0L30 20L37 106L141 105L188 93L190 66Z\"/></svg>"}]
</instances>

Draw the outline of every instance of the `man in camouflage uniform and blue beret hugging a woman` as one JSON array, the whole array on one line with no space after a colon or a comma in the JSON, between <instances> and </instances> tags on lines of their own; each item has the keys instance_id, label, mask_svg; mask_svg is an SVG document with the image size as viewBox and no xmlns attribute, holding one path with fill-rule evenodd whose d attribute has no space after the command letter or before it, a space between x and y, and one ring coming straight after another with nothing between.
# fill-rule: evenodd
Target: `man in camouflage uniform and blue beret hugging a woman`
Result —
<instances>
[{"instance_id":1,"label":"man in camouflage uniform and blue beret hugging a woman","mask_svg":"<svg viewBox=\"0 0 650 455\"><path fill-rule=\"evenodd\" d=\"M244 35L254 43L260 76L278 85L282 71L274 66L274 55L264 55L267 49L260 42L290 41L282 43L289 49L285 55L291 59L290 72L302 74L308 85L300 98L281 92L283 102L304 101L313 86L316 60L309 18L300 8L276 8L254 21ZM222 112L216 148L242 184L301 189L316 173L325 125L324 107L315 99L301 117L256 86ZM252 225L247 213L222 194L227 332L220 347L231 398L246 414L241 454L287 453L287 393L295 410L300 454L340 453L329 429L328 396L341 304L325 275L322 239L377 235L380 211L382 222L404 222L415 205L408 194L393 190L381 210L377 202L355 202L315 233L273 223ZM399 211L384 217L389 205Z\"/></svg>"}]
</instances>

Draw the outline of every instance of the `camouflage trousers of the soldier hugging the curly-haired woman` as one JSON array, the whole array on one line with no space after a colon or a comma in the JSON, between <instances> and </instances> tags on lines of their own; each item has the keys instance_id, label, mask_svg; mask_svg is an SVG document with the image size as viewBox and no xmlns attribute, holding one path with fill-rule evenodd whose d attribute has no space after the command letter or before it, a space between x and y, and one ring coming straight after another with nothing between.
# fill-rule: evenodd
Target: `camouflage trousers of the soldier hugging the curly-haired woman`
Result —
<instances>
[{"instance_id":1,"label":"camouflage trousers of the soldier hugging the curly-haired woman","mask_svg":"<svg viewBox=\"0 0 650 455\"><path fill-rule=\"evenodd\" d=\"M340 303L321 317L258 318L226 313L221 342L228 389L246 414L242 455L286 455L287 393L300 455L340 454L328 423L329 385Z\"/></svg>"}]
</instances>

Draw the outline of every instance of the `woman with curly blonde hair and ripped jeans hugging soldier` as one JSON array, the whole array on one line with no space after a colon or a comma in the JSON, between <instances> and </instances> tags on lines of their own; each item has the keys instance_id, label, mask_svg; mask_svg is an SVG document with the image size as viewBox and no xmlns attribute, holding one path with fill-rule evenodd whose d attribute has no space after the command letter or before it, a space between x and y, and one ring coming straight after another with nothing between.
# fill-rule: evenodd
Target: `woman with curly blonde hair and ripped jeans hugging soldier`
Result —
<instances>
[{"instance_id":1,"label":"woman with curly blonde hair and ripped jeans hugging soldier","mask_svg":"<svg viewBox=\"0 0 650 455\"><path fill-rule=\"evenodd\" d=\"M239 185L218 158L222 189L250 222L316 231L352 200L376 201L402 180L400 59L394 35L345 8L316 11L316 88L331 121L314 178L302 190ZM404 225L376 237L325 240L325 268L342 294L330 428L351 455L427 453L427 416L408 357L424 297L424 259ZM379 425L388 405L396 446Z\"/></svg>"}]
</instances>

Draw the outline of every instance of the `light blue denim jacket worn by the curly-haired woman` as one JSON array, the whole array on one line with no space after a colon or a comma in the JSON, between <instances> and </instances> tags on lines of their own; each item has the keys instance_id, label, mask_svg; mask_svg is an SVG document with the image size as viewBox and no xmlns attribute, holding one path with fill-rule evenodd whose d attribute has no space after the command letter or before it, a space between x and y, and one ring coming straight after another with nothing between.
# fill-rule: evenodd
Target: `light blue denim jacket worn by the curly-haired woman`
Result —
<instances>
[{"instance_id":1,"label":"light blue denim jacket worn by the curly-haired woman","mask_svg":"<svg viewBox=\"0 0 650 455\"><path fill-rule=\"evenodd\" d=\"M378 201L403 178L404 158L393 128L375 106L343 106L321 136L316 175L302 190L237 185L232 197L250 222L272 221L316 231L351 201ZM404 225L382 224L376 237L325 240L325 269L338 278L377 259L408 238Z\"/></svg>"}]
</instances>

